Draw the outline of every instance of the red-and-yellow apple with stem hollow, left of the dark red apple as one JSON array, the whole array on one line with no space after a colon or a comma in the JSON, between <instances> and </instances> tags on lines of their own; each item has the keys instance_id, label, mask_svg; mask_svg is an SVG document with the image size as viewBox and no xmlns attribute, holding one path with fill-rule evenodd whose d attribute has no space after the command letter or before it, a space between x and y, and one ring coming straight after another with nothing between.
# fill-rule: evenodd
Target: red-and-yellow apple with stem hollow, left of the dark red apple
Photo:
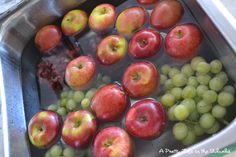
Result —
<instances>
[{"instance_id":1,"label":"red-and-yellow apple with stem hollow, left of the dark red apple","mask_svg":"<svg viewBox=\"0 0 236 157\"><path fill-rule=\"evenodd\" d=\"M103 65L115 64L125 57L127 45L124 37L110 35L98 44L96 57Z\"/></svg>"}]
</instances>

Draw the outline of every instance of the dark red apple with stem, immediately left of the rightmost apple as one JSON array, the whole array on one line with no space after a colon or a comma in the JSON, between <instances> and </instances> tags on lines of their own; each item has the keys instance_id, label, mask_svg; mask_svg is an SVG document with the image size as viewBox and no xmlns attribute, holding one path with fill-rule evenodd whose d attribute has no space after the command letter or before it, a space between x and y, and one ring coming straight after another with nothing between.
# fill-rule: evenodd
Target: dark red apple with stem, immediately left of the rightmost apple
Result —
<instances>
[{"instance_id":1,"label":"dark red apple with stem, immediately left of the rightmost apple","mask_svg":"<svg viewBox=\"0 0 236 157\"><path fill-rule=\"evenodd\" d=\"M129 55L136 59L145 59L155 55L161 48L161 36L154 30L141 30L134 34L129 42Z\"/></svg>"}]
</instances>

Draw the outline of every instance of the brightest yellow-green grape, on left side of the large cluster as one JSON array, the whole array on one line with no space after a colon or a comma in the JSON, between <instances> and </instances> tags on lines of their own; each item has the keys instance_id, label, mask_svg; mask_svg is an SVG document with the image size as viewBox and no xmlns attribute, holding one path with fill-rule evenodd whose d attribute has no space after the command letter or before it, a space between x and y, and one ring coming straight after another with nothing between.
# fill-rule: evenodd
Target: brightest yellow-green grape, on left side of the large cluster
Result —
<instances>
[{"instance_id":1,"label":"brightest yellow-green grape, on left side of the large cluster","mask_svg":"<svg viewBox=\"0 0 236 157\"><path fill-rule=\"evenodd\" d=\"M184 105L178 105L174 109L174 115L177 120L182 121L188 118L189 116L189 110L186 106Z\"/></svg>"}]
</instances>

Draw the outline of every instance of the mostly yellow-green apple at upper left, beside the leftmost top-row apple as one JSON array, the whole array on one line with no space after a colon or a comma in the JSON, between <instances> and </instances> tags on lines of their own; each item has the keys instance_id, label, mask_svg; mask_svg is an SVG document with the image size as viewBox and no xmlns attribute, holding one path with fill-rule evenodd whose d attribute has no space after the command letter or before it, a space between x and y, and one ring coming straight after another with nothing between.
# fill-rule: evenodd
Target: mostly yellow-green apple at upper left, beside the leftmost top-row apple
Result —
<instances>
[{"instance_id":1,"label":"mostly yellow-green apple at upper left, beside the leftmost top-row apple","mask_svg":"<svg viewBox=\"0 0 236 157\"><path fill-rule=\"evenodd\" d=\"M82 32L88 23L88 15L83 10L71 10L62 19L61 29L66 36Z\"/></svg>"}]
</instances>

